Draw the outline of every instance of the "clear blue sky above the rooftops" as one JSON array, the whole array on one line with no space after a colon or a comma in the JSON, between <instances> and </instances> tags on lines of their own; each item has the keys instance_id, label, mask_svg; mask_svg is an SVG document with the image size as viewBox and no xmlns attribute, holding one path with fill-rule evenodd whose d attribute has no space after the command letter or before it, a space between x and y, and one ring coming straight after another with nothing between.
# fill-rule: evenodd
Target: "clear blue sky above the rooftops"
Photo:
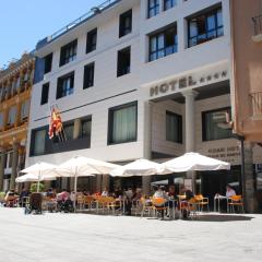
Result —
<instances>
[{"instance_id":1,"label":"clear blue sky above the rooftops","mask_svg":"<svg viewBox=\"0 0 262 262\"><path fill-rule=\"evenodd\" d=\"M105 0L0 0L0 68Z\"/></svg>"}]
</instances>

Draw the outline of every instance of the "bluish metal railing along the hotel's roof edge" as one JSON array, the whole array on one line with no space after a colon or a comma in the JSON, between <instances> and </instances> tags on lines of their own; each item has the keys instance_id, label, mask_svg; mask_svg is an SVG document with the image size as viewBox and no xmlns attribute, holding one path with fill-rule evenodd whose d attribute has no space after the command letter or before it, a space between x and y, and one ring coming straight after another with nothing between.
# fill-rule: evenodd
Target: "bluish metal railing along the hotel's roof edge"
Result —
<instances>
[{"instance_id":1,"label":"bluish metal railing along the hotel's roof edge","mask_svg":"<svg viewBox=\"0 0 262 262\"><path fill-rule=\"evenodd\" d=\"M92 17L93 15L100 13L104 9L110 7L111 4L119 2L119 1L121 1L121 0L107 0L99 5L92 8L91 11L88 11L87 13L83 14L79 19L72 21L68 25L63 26L61 29L59 29L59 31L55 32L52 35L48 36L47 41L51 41L52 39L57 38L58 36L67 33L69 29L72 29L73 27L78 26L83 21Z\"/></svg>"}]
</instances>

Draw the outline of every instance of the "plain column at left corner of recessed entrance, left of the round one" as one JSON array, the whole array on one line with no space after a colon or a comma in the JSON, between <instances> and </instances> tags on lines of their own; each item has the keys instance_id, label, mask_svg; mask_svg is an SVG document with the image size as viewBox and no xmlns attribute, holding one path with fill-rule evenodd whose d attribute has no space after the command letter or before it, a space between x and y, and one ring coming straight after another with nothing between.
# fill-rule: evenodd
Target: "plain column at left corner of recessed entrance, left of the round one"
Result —
<instances>
[{"instance_id":1,"label":"plain column at left corner of recessed entrance, left of the round one","mask_svg":"<svg viewBox=\"0 0 262 262\"><path fill-rule=\"evenodd\" d=\"M144 103L144 158L152 157L152 103ZM151 176L142 177L142 188L144 194L151 192Z\"/></svg>"}]
</instances>

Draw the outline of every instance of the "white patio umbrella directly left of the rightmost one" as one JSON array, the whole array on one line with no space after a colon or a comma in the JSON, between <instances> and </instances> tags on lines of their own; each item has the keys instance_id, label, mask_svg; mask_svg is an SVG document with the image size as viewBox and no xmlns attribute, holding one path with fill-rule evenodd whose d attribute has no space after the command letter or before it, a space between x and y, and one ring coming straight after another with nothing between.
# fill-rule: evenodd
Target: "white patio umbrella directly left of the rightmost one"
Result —
<instances>
[{"instance_id":1,"label":"white patio umbrella directly left of the rightmost one","mask_svg":"<svg viewBox=\"0 0 262 262\"><path fill-rule=\"evenodd\" d=\"M163 166L158 163L147 159L138 159L124 166L114 169L112 177L133 177L133 176L152 176L163 172Z\"/></svg>"}]
</instances>

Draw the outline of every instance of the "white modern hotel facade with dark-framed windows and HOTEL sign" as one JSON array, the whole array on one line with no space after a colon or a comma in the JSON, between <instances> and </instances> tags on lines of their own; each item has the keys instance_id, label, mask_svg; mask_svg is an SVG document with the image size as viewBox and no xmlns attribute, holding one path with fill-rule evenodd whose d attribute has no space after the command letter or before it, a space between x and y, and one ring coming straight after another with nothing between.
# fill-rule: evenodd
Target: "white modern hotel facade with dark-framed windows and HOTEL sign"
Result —
<instances>
[{"instance_id":1,"label":"white modern hotel facade with dark-framed windows and HOTEL sign","mask_svg":"<svg viewBox=\"0 0 262 262\"><path fill-rule=\"evenodd\" d=\"M195 151L231 163L231 171L195 174L202 193L223 193L240 180L241 163L224 129L234 117L230 24L229 0L115 0L39 41L26 165L72 155L163 162ZM52 106L64 143L48 139ZM253 164L261 152L253 147ZM147 192L152 179L136 182Z\"/></svg>"}]
</instances>

